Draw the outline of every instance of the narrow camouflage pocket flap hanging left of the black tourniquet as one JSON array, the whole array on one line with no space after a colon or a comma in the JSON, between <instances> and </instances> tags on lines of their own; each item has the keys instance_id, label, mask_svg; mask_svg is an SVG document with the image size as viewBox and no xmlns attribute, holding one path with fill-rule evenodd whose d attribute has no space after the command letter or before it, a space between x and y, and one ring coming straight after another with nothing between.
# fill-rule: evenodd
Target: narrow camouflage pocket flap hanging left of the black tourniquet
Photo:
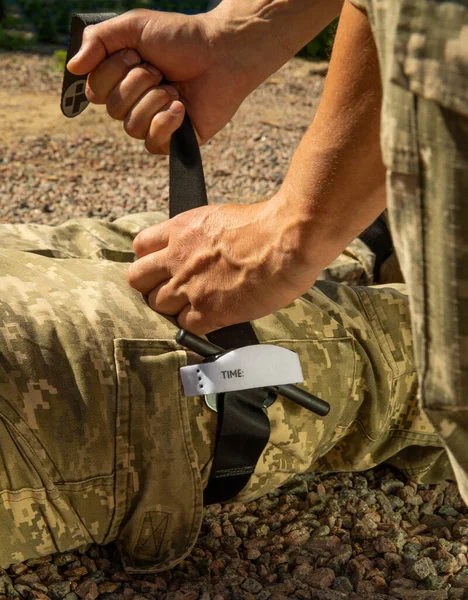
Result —
<instances>
[{"instance_id":1,"label":"narrow camouflage pocket flap hanging left of the black tourniquet","mask_svg":"<svg viewBox=\"0 0 468 600\"><path fill-rule=\"evenodd\" d=\"M195 544L202 485L175 342L114 341L117 372L116 513L110 538L127 572L169 569Z\"/></svg>"}]
</instances>

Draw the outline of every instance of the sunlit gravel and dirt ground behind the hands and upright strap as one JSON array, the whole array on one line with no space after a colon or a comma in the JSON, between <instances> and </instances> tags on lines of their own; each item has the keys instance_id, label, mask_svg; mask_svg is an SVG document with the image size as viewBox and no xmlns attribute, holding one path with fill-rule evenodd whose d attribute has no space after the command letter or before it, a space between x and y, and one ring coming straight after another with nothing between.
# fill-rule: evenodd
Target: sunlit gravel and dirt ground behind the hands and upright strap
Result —
<instances>
[{"instance_id":1,"label":"sunlit gravel and dirt ground behind the hands and upright strap","mask_svg":"<svg viewBox=\"0 0 468 600\"><path fill-rule=\"evenodd\" d=\"M326 67L291 61L203 148L211 201L271 197L313 118ZM53 58L0 54L0 70L0 221L56 224L167 209L167 159L129 138L103 106L65 118Z\"/></svg>"}]
</instances>

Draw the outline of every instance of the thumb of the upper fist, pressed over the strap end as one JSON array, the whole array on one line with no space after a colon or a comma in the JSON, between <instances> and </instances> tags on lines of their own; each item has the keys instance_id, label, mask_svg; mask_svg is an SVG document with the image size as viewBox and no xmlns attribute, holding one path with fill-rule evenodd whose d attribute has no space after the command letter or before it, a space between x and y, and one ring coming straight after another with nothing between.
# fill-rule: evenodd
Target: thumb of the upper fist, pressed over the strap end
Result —
<instances>
[{"instance_id":1,"label":"thumb of the upper fist, pressed over the strap end","mask_svg":"<svg viewBox=\"0 0 468 600\"><path fill-rule=\"evenodd\" d=\"M86 75L114 52L124 48L136 49L149 12L133 10L86 27L80 51L69 61L67 69L74 75Z\"/></svg>"}]
</instances>

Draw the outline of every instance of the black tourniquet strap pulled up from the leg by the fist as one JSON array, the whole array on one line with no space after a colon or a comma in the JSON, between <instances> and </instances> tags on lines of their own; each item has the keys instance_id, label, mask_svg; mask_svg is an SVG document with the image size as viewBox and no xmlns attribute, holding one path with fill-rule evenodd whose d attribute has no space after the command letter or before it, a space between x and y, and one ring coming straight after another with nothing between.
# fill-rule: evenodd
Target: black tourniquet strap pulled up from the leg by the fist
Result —
<instances>
[{"instance_id":1,"label":"black tourniquet strap pulled up from the leg by the fist","mask_svg":"<svg viewBox=\"0 0 468 600\"><path fill-rule=\"evenodd\" d=\"M115 17L115 14L75 15L72 19L67 63L81 46L83 31ZM62 112L76 117L88 106L85 96L86 75L65 70ZM188 116L171 139L169 215L207 204L203 166L195 132ZM258 344L250 323L225 327L209 334L208 339L224 349ZM270 437L270 422L263 409L269 394L264 390L244 390L218 394L218 427L215 456L205 504L223 502L236 496L247 484Z\"/></svg>"}]
</instances>

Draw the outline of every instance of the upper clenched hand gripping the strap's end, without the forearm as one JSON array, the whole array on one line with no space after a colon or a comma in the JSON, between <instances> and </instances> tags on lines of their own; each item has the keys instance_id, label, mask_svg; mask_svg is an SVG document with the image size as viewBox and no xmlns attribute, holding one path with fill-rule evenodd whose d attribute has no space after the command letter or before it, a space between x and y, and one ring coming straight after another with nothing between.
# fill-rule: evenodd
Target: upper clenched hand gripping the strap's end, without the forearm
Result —
<instances>
[{"instance_id":1,"label":"upper clenched hand gripping the strap's end, without the forearm","mask_svg":"<svg viewBox=\"0 0 468 600\"><path fill-rule=\"evenodd\" d=\"M210 13L201 18L133 10L87 27L68 69L90 73L88 99L106 104L131 137L145 139L153 154L168 153L185 109L205 143L248 93L234 59L216 43L215 30ZM159 85L162 74L171 86Z\"/></svg>"}]
</instances>

